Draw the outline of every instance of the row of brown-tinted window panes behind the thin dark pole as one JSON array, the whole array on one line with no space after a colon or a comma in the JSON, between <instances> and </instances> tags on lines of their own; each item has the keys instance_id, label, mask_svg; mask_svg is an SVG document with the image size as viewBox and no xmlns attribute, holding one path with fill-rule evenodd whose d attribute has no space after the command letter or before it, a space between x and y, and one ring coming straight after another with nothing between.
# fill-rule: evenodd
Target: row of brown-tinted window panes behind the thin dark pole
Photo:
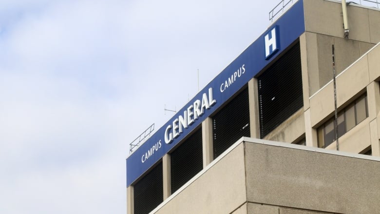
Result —
<instances>
[{"instance_id":1,"label":"row of brown-tinted window panes behind the thin dark pole","mask_svg":"<svg viewBox=\"0 0 380 214\"><path fill-rule=\"evenodd\" d=\"M334 117L318 128L319 147L325 148L335 141L334 130L337 130L338 137L341 137L367 117L367 95L363 95L338 114L337 128L335 127Z\"/></svg>"}]
</instances>

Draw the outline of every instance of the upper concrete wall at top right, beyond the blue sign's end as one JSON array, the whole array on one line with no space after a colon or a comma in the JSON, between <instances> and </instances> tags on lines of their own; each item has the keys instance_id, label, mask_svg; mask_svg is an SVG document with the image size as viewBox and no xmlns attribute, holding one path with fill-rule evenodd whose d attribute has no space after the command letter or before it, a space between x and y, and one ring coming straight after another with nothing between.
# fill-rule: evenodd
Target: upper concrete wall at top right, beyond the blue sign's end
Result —
<instances>
[{"instance_id":1,"label":"upper concrete wall at top right, beyond the blue sign's end","mask_svg":"<svg viewBox=\"0 0 380 214\"><path fill-rule=\"evenodd\" d=\"M302 58L307 65L309 96L333 78L332 44L339 74L380 41L380 10L348 5L347 13L350 34L344 39L342 4L304 0L306 32L300 41L307 51Z\"/></svg>"}]
</instances>

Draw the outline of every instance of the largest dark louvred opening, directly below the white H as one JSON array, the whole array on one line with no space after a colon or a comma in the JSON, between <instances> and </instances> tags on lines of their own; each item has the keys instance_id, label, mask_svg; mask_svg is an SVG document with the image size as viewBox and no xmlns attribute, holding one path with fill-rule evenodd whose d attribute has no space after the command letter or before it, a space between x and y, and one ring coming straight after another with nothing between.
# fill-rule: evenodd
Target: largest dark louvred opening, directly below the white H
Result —
<instances>
[{"instance_id":1,"label":"largest dark louvred opening, directly below the white H","mask_svg":"<svg viewBox=\"0 0 380 214\"><path fill-rule=\"evenodd\" d=\"M264 138L304 106L300 43L258 78L260 137Z\"/></svg>"}]
</instances>

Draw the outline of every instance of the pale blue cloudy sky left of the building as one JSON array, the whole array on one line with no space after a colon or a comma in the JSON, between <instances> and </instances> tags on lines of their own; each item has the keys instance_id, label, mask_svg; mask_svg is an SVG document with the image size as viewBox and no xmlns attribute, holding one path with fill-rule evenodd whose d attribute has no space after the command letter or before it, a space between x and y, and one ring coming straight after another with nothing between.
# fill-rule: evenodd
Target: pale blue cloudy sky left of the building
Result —
<instances>
[{"instance_id":1,"label":"pale blue cloudy sky left of the building","mask_svg":"<svg viewBox=\"0 0 380 214\"><path fill-rule=\"evenodd\" d=\"M280 0L0 0L0 213L126 213L129 143L158 130Z\"/></svg>"}]
</instances>

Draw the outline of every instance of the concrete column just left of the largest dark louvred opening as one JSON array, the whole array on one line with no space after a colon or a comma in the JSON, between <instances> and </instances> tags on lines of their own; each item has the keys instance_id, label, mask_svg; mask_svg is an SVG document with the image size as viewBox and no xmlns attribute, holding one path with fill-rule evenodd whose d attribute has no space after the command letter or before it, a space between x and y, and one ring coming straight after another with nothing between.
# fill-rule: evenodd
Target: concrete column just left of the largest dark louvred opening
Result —
<instances>
[{"instance_id":1,"label":"concrete column just left of the largest dark louvred opening","mask_svg":"<svg viewBox=\"0 0 380 214\"><path fill-rule=\"evenodd\" d=\"M250 134L253 138L260 138L259 93L256 78L248 82L248 98Z\"/></svg>"}]
</instances>

